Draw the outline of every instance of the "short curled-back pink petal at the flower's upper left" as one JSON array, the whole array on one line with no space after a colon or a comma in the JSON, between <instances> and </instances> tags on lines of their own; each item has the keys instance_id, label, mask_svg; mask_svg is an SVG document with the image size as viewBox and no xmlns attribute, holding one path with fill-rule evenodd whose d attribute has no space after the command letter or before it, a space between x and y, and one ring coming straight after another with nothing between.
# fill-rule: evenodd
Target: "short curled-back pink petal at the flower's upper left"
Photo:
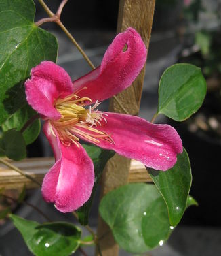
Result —
<instances>
[{"instance_id":1,"label":"short curled-back pink petal at the flower's upper left","mask_svg":"<svg viewBox=\"0 0 221 256\"><path fill-rule=\"evenodd\" d=\"M45 117L58 119L60 113L53 104L58 97L73 93L73 84L66 71L52 61L43 61L31 69L25 82L28 103Z\"/></svg>"}]
</instances>

